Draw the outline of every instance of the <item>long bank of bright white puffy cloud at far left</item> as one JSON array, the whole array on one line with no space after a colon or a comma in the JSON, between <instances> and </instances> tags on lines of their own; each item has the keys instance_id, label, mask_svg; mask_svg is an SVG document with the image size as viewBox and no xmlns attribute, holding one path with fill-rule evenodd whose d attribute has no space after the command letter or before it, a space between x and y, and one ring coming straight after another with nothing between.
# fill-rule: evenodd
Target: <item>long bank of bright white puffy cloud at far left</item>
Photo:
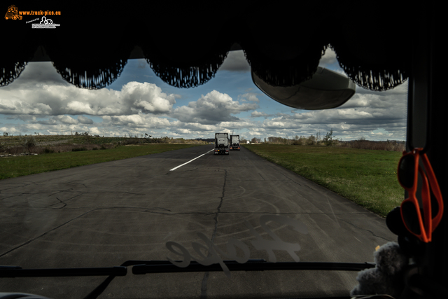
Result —
<instances>
[{"instance_id":1,"label":"long bank of bright white puffy cloud at far left","mask_svg":"<svg viewBox=\"0 0 448 299\"><path fill-rule=\"evenodd\" d=\"M25 72L25 71L24 71ZM0 114L120 116L172 111L177 95L152 83L129 82L121 90L86 90L69 84L39 81L11 83L0 89Z\"/></svg>"}]
</instances>

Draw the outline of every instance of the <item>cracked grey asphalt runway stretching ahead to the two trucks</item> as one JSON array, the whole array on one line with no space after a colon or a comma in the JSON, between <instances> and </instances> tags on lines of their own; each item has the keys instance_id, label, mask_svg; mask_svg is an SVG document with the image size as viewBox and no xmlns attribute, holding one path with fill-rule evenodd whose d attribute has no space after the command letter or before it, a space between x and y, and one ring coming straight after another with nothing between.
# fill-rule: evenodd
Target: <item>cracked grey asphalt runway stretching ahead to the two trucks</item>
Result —
<instances>
[{"instance_id":1,"label":"cracked grey asphalt runway stretching ahead to the two trucks","mask_svg":"<svg viewBox=\"0 0 448 299\"><path fill-rule=\"evenodd\" d=\"M246 148L230 155L214 155L212 148L196 146L1 180L0 265L113 267L125 260L183 260L188 255L202 260L211 254L204 250L207 240L224 260L230 259L223 256L228 244L239 244L233 254L240 259L364 263L373 261L376 246L396 240L383 218ZM177 244L172 250L181 252L180 245L188 253L172 253L167 242ZM293 253L279 249L281 242ZM270 254L262 247L267 244L276 244ZM127 275L116 277L99 298L348 295L356 274L135 275L128 267ZM0 292L84 298L105 278L0 278Z\"/></svg>"}]
</instances>

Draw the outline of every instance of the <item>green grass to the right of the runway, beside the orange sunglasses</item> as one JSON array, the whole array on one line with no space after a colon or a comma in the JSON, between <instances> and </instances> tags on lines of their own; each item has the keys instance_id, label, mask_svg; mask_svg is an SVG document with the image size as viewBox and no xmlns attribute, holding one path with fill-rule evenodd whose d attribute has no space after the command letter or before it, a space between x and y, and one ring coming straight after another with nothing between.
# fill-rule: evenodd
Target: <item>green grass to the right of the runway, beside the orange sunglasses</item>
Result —
<instances>
[{"instance_id":1,"label":"green grass to the right of the runway, beside the orange sunglasses","mask_svg":"<svg viewBox=\"0 0 448 299\"><path fill-rule=\"evenodd\" d=\"M304 176L385 217L400 205L401 153L332 146L244 145L249 151Z\"/></svg>"}]
</instances>

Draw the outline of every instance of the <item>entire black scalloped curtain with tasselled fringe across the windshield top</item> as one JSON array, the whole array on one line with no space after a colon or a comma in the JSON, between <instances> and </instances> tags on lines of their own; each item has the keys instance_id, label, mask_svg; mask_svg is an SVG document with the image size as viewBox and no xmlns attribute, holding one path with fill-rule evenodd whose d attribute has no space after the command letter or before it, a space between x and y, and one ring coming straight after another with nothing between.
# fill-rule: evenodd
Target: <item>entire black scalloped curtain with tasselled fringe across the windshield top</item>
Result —
<instances>
[{"instance_id":1,"label":"entire black scalloped curtain with tasselled fringe across the windshield top","mask_svg":"<svg viewBox=\"0 0 448 299\"><path fill-rule=\"evenodd\" d=\"M104 88L120 76L132 48L139 45L163 81L191 88L214 78L228 49L237 42L255 74L269 85L291 86L311 78L327 47L323 45L330 43L339 65L357 85L389 90L404 83L410 74L409 41L418 29L414 24L419 20L419 10L404 13L401 4L385 4L349 1L322 6L305 2L293 8L250 1L235 12L232 6L209 2L175 7L151 2L136 6L137 12L126 21L121 19L120 6L92 2L87 11L83 6L62 6L64 15L55 18L61 22L57 31L36 31L25 22L4 20L6 32L20 38L3 49L6 53L0 57L0 86L18 78L29 62L29 52L32 56L42 45L64 80L79 88ZM207 8L207 13L200 8ZM80 22L80 15L89 21ZM209 24L204 15L214 15L221 23ZM182 30L153 26L169 18ZM111 30L110 23L116 20L120 24ZM153 34L146 36L152 29ZM101 36L89 36L91 30L103 31ZM293 58L281 57L279 49L283 46L295 49L288 53ZM278 53L269 53L271 48Z\"/></svg>"}]
</instances>

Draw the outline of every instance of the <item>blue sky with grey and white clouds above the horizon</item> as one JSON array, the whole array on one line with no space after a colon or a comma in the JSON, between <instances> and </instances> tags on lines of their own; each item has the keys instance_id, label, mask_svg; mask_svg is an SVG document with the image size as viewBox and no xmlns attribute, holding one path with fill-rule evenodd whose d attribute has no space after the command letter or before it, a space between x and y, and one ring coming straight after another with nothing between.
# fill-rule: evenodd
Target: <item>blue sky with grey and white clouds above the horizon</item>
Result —
<instances>
[{"instance_id":1,"label":"blue sky with grey and white clouds above the horizon","mask_svg":"<svg viewBox=\"0 0 448 299\"><path fill-rule=\"evenodd\" d=\"M321 67L343 73L327 50ZM386 92L357 86L336 109L305 111L279 104L251 80L244 53L232 51L212 78L197 88L174 88L145 60L128 60L120 78L101 90L76 88L51 62L30 62L20 77L0 88L0 134L101 136L150 134L185 139L308 137L333 130L336 138L405 140L407 82Z\"/></svg>"}]
</instances>

